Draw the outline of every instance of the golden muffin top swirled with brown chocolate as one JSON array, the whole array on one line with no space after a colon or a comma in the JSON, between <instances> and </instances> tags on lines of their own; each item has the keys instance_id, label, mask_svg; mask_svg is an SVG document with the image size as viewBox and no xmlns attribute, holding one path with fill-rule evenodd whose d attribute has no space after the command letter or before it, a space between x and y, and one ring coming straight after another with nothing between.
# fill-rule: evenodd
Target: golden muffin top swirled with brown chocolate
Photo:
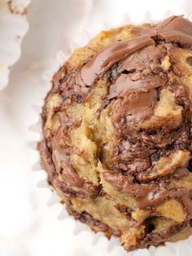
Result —
<instances>
[{"instance_id":1,"label":"golden muffin top swirled with brown chocolate","mask_svg":"<svg viewBox=\"0 0 192 256\"><path fill-rule=\"evenodd\" d=\"M69 214L130 251L192 234L192 23L99 33L52 80L41 165Z\"/></svg>"}]
</instances>

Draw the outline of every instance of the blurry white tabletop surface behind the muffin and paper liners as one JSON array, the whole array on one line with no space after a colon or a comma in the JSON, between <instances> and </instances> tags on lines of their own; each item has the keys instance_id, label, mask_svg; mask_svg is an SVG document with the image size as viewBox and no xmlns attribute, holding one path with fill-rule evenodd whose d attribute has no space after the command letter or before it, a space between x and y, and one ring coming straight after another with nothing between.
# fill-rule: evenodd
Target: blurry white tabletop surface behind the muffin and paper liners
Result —
<instances>
[{"instance_id":1,"label":"blurry white tabletop surface behind the muffin and paper liners","mask_svg":"<svg viewBox=\"0 0 192 256\"><path fill-rule=\"evenodd\" d=\"M46 174L32 172L38 157L28 148L28 142L38 136L28 126L37 121L32 106L41 105L41 95L46 94L39 91L46 84L42 73L55 65L58 51L68 51L79 39L82 42L85 27L96 32L106 28L106 20L117 25L124 13L134 22L142 22L146 11L151 11L151 18L159 20L167 10L190 15L191 1L33 0L20 61L11 71L9 85L0 92L0 256L127 255L123 249L107 253L105 238L93 247L89 232L75 236L71 219L57 219L62 206L47 206L50 191L37 188ZM192 254L188 247L183 247L183 256ZM170 255L179 255L172 248ZM168 255L164 248L156 252L163 254ZM142 250L133 255L148 253Z\"/></svg>"}]
</instances>

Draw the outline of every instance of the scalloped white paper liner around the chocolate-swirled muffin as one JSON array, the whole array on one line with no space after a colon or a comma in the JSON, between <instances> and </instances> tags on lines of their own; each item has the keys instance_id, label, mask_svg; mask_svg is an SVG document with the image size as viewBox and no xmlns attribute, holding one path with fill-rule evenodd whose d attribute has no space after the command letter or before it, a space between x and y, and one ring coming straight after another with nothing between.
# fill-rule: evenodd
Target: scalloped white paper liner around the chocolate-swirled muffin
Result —
<instances>
[{"instance_id":1,"label":"scalloped white paper liner around the chocolate-swirled muffin","mask_svg":"<svg viewBox=\"0 0 192 256\"><path fill-rule=\"evenodd\" d=\"M165 18L167 18L170 15L173 15L172 11L166 11L164 13L164 17L162 20L164 20ZM189 15L186 18L192 20L192 15ZM158 22L158 21L159 20L151 20L151 12L146 11L146 13L143 17L143 20L137 24L151 23L151 22L153 23L153 22ZM120 24L117 24L116 26L111 25L110 21L106 20L106 22L103 24L103 29L111 29L114 27L119 27L124 24L136 24L136 23L134 23L130 19L129 14L125 14L122 16L122 20L121 20ZM86 28L84 30L84 32L82 33L81 42L79 42L76 45L69 46L68 49L66 50L66 52L62 52L62 51L58 52L58 54L57 54L58 67L55 68L55 70L49 70L49 71L46 71L45 73L43 73L43 78L46 83L46 90L44 90L42 99L45 98L46 92L48 92L50 90L50 87L51 87L50 79L53 77L55 72L57 72L59 67L61 67L66 60L68 60L68 57L72 54L72 51L77 47L84 46L97 33L99 33L99 31L93 31L89 28ZM42 93L42 91L41 91L41 93ZM35 111L35 113L37 113L39 119L36 124L29 126L28 130L41 135L41 118L39 116L39 113L41 112L41 106L40 105L33 106L33 110ZM41 141L41 139L39 141ZM33 150L37 150L37 141L28 143L28 146L29 146L29 148L31 148ZM41 170L40 157L39 157L38 161L33 164L32 170L33 171L44 171L44 170ZM37 183L37 187L50 189L50 186L48 185L46 179L39 181L39 183ZM52 205L58 204L59 201L60 201L60 197L55 192L52 192L52 194L50 196L50 200L47 202L47 205L52 206ZM89 234L92 236L91 244L93 246L97 246L99 241L104 239L105 246L103 246L103 247L106 249L106 251L102 252L103 255L111 255L111 256L117 256L117 255L118 256L127 256L127 255L129 255L129 256L163 256L163 255L166 255L166 256L181 256L181 255L182 256L191 256L192 255L192 236L190 236L188 239L186 239L184 241L178 241L176 243L166 242L165 246L160 246L157 248L155 246L151 246L149 249L137 249L133 252L127 253L123 249L123 247L120 245L120 240L117 237L112 236L110 240L107 240L107 238L104 236L103 232L98 232L98 233L91 232L89 226L87 226L86 224L81 223L79 221L76 221L72 216L70 216L68 214L67 210L65 209L65 206L62 205L62 210L58 214L58 219L63 220L66 218L71 218L72 222L74 223L74 231L73 231L74 235L77 236L77 235L81 234L82 232L89 232Z\"/></svg>"}]
</instances>

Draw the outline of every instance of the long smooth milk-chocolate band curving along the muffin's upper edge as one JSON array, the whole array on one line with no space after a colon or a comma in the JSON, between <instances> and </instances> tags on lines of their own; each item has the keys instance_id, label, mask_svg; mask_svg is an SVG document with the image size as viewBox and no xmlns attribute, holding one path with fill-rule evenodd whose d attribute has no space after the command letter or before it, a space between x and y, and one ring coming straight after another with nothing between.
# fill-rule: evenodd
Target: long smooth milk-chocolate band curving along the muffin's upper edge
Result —
<instances>
[{"instance_id":1,"label":"long smooth milk-chocolate band curving along the muffin's upper edge","mask_svg":"<svg viewBox=\"0 0 192 256\"><path fill-rule=\"evenodd\" d=\"M85 86L91 86L98 76L107 72L116 62L124 60L143 47L155 45L155 40L179 42L181 45L191 45L192 42L192 24L180 16L170 17L160 24L152 25L149 29L136 29L135 31L136 38L107 46L98 51L94 58L81 68L81 79Z\"/></svg>"}]
</instances>

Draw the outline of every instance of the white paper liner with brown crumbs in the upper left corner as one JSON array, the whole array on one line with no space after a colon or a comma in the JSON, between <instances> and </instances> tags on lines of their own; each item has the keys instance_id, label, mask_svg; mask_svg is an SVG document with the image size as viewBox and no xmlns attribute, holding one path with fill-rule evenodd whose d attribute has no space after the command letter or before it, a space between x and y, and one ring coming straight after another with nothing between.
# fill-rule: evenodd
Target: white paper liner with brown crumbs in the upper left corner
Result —
<instances>
[{"instance_id":1,"label":"white paper liner with brown crumbs in the upper left corner","mask_svg":"<svg viewBox=\"0 0 192 256\"><path fill-rule=\"evenodd\" d=\"M28 31L30 0L0 0L0 90L7 86L11 67L20 58L20 44Z\"/></svg>"}]
</instances>

